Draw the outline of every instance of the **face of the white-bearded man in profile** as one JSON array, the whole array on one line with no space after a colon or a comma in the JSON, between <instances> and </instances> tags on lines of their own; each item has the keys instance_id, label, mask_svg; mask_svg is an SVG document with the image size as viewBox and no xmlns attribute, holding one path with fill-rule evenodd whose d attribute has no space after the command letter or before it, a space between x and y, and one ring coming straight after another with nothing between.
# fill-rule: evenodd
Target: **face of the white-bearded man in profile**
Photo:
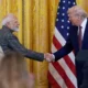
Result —
<instances>
[{"instance_id":1,"label":"face of the white-bearded man in profile","mask_svg":"<svg viewBox=\"0 0 88 88\"><path fill-rule=\"evenodd\" d=\"M15 16L13 16L11 19L11 21L8 23L8 25L12 31L19 31L20 23Z\"/></svg>"}]
</instances>

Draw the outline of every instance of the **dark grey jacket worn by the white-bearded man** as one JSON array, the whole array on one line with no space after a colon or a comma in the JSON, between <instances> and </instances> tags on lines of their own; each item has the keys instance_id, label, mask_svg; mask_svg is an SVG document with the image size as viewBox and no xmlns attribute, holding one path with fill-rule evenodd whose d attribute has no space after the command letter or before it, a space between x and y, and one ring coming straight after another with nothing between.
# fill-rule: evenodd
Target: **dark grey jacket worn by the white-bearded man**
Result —
<instances>
[{"instance_id":1,"label":"dark grey jacket worn by the white-bearded man","mask_svg":"<svg viewBox=\"0 0 88 88\"><path fill-rule=\"evenodd\" d=\"M4 25L0 30L0 46L2 47L3 52L9 50L18 51L25 57L40 62L44 59L44 54L25 48L22 44L20 44L18 37L12 34L12 31Z\"/></svg>"}]
</instances>

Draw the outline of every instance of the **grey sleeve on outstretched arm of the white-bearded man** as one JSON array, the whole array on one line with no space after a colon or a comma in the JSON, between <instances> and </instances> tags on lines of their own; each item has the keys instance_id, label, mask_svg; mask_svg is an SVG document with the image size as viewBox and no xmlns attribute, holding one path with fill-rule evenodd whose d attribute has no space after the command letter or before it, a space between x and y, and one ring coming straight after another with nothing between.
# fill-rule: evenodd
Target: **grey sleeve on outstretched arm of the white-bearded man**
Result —
<instances>
[{"instance_id":1,"label":"grey sleeve on outstretched arm of the white-bearded man","mask_svg":"<svg viewBox=\"0 0 88 88\"><path fill-rule=\"evenodd\" d=\"M8 45L11 50L20 52L23 56L43 62L44 59L44 54L43 53L37 53L33 52L31 50L25 48L22 44L20 44L19 40L16 36L9 34L7 37Z\"/></svg>"}]
</instances>

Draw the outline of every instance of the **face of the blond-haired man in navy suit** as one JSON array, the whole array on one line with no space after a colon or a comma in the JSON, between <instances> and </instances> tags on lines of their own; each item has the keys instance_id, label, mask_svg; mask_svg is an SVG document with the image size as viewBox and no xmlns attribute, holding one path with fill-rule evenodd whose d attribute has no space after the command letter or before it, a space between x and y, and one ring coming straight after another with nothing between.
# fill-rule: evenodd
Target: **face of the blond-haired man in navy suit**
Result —
<instances>
[{"instance_id":1,"label":"face of the blond-haired man in navy suit","mask_svg":"<svg viewBox=\"0 0 88 88\"><path fill-rule=\"evenodd\" d=\"M79 18L76 14L70 13L68 14L68 18L73 25L79 25Z\"/></svg>"}]
</instances>

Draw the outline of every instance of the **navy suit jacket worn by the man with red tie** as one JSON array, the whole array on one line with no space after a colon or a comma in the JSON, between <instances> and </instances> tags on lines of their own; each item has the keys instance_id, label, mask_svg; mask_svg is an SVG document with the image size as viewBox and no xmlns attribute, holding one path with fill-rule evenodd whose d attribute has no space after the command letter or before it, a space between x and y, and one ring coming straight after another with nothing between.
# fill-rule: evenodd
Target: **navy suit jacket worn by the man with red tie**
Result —
<instances>
[{"instance_id":1,"label":"navy suit jacket worn by the man with red tie","mask_svg":"<svg viewBox=\"0 0 88 88\"><path fill-rule=\"evenodd\" d=\"M58 61L63 56L70 53L73 50L75 52L75 55L79 52L79 45L78 45L78 26L72 26L69 30L69 36L67 38L66 44L57 52L54 53L55 61ZM88 19L87 19L87 25L85 29L85 34L82 38L82 45L81 50L88 50Z\"/></svg>"}]
</instances>

